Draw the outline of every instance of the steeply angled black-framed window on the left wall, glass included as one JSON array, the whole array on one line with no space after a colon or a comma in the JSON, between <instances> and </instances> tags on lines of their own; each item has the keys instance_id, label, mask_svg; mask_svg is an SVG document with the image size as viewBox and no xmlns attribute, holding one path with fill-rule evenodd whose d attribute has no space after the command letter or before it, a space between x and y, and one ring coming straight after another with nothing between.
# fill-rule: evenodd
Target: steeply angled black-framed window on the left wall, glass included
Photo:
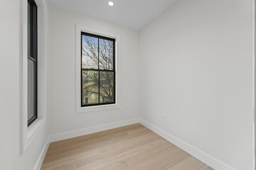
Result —
<instances>
[{"instance_id":1,"label":"steeply angled black-framed window on the left wall, glass included","mask_svg":"<svg viewBox=\"0 0 256 170\"><path fill-rule=\"evenodd\" d=\"M37 118L37 6L28 0L28 126Z\"/></svg>"}]
</instances>

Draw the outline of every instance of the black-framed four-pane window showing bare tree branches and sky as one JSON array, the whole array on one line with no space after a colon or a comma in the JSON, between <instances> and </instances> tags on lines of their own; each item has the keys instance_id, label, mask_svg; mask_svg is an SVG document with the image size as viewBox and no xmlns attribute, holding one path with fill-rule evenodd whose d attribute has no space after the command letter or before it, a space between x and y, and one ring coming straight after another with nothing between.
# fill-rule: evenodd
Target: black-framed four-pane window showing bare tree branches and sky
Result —
<instances>
[{"instance_id":1,"label":"black-framed four-pane window showing bare tree branches and sky","mask_svg":"<svg viewBox=\"0 0 256 170\"><path fill-rule=\"evenodd\" d=\"M116 103L115 41L81 32L81 107Z\"/></svg>"}]
</instances>

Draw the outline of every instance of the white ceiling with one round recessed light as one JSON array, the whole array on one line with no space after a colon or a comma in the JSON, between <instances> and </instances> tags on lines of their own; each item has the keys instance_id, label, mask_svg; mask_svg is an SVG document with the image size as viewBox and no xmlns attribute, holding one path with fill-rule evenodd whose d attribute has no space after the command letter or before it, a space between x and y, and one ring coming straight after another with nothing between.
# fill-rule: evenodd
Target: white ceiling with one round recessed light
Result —
<instances>
[{"instance_id":1,"label":"white ceiling with one round recessed light","mask_svg":"<svg viewBox=\"0 0 256 170\"><path fill-rule=\"evenodd\" d=\"M109 6L108 2L114 2ZM100 18L133 29L141 29L176 0L50 0L59 8Z\"/></svg>"}]
</instances>

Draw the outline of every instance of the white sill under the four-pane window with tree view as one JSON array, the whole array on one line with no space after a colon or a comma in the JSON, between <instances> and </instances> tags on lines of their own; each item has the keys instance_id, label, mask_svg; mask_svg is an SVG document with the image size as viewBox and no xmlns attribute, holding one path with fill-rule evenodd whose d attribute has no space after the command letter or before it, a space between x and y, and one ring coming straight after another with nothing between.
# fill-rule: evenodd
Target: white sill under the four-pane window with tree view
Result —
<instances>
[{"instance_id":1,"label":"white sill under the four-pane window with tree view","mask_svg":"<svg viewBox=\"0 0 256 170\"><path fill-rule=\"evenodd\" d=\"M76 108L76 113L84 113L84 112L89 112L89 111L100 111L100 110L106 110L106 109L117 109L117 108L120 108L120 106L118 104L78 107L78 108Z\"/></svg>"}]
</instances>

